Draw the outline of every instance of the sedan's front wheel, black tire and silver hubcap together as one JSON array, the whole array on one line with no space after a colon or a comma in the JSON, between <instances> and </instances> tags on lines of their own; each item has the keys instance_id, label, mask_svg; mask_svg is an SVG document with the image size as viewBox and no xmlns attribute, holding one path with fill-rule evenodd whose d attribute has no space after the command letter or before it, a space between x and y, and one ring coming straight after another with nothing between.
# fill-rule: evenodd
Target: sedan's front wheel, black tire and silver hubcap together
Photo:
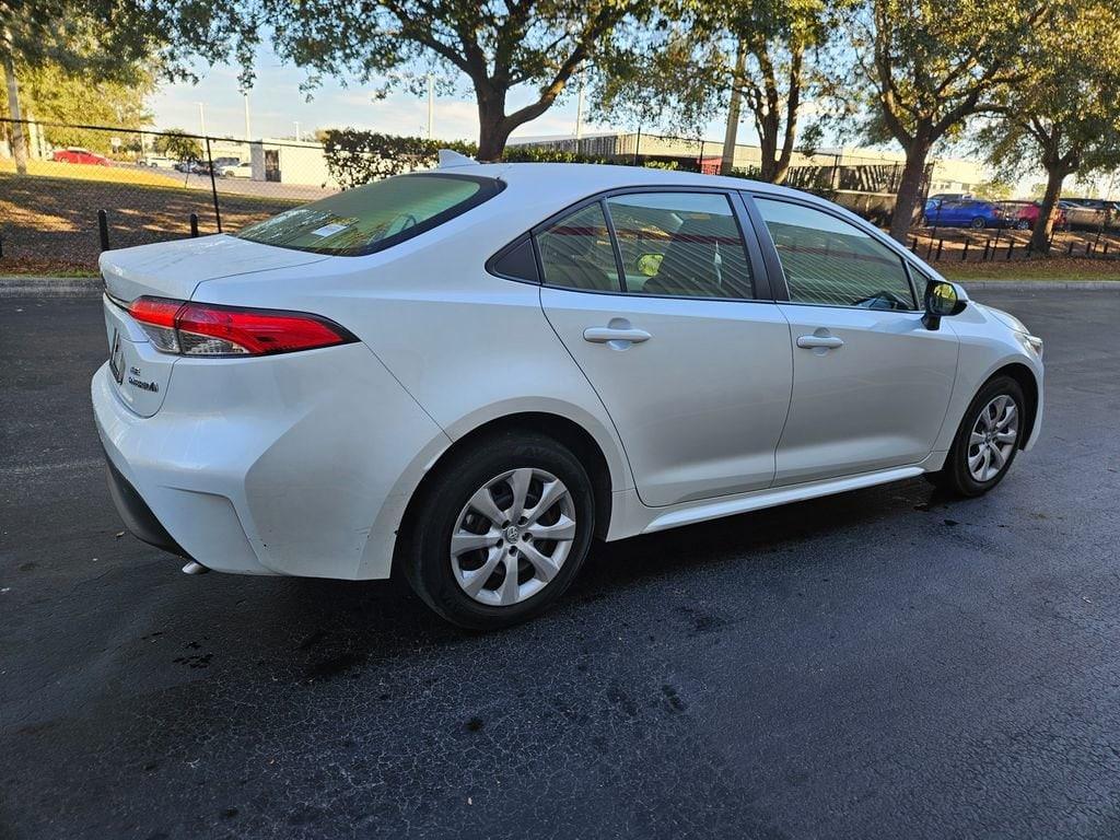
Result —
<instances>
[{"instance_id":1,"label":"sedan's front wheel, black tire and silver hubcap together","mask_svg":"<svg viewBox=\"0 0 1120 840\"><path fill-rule=\"evenodd\" d=\"M1010 376L988 382L964 412L944 467L928 479L961 496L980 496L999 484L1019 448L1025 404Z\"/></svg>"}]
</instances>

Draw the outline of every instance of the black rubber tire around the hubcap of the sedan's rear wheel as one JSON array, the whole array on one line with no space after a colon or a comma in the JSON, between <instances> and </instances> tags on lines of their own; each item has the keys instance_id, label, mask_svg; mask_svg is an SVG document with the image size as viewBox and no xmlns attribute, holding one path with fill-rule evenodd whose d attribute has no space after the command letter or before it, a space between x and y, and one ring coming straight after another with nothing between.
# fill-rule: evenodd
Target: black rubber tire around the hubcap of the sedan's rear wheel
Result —
<instances>
[{"instance_id":1,"label":"black rubber tire around the hubcap of the sedan's rear wheel","mask_svg":"<svg viewBox=\"0 0 1120 840\"><path fill-rule=\"evenodd\" d=\"M496 476L524 467L551 474L568 488L575 512L576 535L559 571L543 584L543 588L516 604L491 606L473 598L459 585L452 570L451 535L459 524L460 512L476 492ZM411 525L404 534L401 564L416 594L448 622L475 631L520 624L552 606L584 564L595 532L594 491L579 459L550 437L530 431L510 431L475 441L468 449L441 464L438 470L418 500L414 515L410 517ZM532 493L530 489L530 496ZM489 528L485 520L479 522ZM484 558L488 557L488 549L479 551L482 553L475 557L477 564L482 566ZM495 568L494 575L501 576L504 562ZM519 579L525 575L533 576L523 556L515 562L522 567Z\"/></svg>"}]
</instances>

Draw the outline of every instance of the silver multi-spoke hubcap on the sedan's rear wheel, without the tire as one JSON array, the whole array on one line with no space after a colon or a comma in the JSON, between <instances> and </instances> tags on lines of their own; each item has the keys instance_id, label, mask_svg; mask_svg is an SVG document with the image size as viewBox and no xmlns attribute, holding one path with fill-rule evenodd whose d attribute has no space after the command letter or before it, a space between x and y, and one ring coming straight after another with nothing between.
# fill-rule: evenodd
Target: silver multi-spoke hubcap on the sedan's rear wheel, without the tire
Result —
<instances>
[{"instance_id":1,"label":"silver multi-spoke hubcap on the sedan's rear wheel, without the tire","mask_svg":"<svg viewBox=\"0 0 1120 840\"><path fill-rule=\"evenodd\" d=\"M560 572L576 539L576 505L563 482L532 467L491 478L459 512L451 571L480 604L532 598Z\"/></svg>"}]
</instances>

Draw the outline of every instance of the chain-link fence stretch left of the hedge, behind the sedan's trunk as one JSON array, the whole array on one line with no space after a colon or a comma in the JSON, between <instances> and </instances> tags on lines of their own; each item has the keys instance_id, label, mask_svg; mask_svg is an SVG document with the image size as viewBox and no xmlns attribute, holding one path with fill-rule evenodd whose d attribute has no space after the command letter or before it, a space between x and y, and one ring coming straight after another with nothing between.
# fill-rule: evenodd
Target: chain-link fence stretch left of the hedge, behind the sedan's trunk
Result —
<instances>
[{"instance_id":1,"label":"chain-link fence stretch left of the hedge, behind the sedan's trunk","mask_svg":"<svg viewBox=\"0 0 1120 840\"><path fill-rule=\"evenodd\" d=\"M0 120L0 272L88 271L105 248L240 227L338 190L323 146Z\"/></svg>"}]
</instances>

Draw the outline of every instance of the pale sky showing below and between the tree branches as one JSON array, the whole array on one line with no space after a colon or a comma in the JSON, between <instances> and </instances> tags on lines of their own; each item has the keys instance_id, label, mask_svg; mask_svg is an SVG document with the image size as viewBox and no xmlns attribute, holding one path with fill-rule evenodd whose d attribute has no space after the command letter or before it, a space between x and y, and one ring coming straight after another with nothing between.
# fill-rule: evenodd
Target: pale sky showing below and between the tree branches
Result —
<instances>
[{"instance_id":1,"label":"pale sky showing below and between the tree branches","mask_svg":"<svg viewBox=\"0 0 1120 840\"><path fill-rule=\"evenodd\" d=\"M256 53L256 80L249 93L251 132L254 137L295 137L317 128L358 128L388 134L423 137L428 127L428 102L424 96L395 92L374 100L376 84L344 86L335 80L324 80L310 102L299 86L302 71L286 66L267 47ZM159 129L179 128L199 131L198 103L203 103L206 130L211 134L243 137L245 131L244 101L237 86L237 68L227 65L198 66L198 84L164 85L149 101ZM511 93L508 110L513 111L534 99L533 91ZM536 120L521 127L514 137L571 134L576 130L576 96L569 94ZM722 115L718 115L721 118ZM713 120L703 130L704 138L721 140L724 125ZM610 127L585 121L584 131L606 131ZM477 140L478 112L469 91L436 99L432 133L439 140ZM746 124L740 128L739 142L753 142Z\"/></svg>"}]
</instances>

